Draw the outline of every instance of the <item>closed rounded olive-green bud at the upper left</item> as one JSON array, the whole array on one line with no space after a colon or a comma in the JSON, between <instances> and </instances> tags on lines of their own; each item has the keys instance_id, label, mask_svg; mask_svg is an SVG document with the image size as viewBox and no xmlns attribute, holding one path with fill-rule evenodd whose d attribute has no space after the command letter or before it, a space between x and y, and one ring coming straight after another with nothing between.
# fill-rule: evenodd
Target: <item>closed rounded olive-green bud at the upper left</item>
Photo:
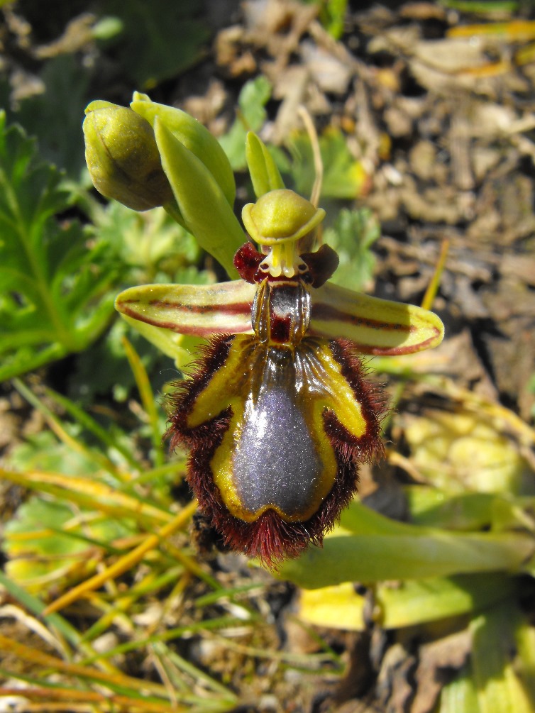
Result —
<instances>
[{"instance_id":1,"label":"closed rounded olive-green bud at the upper left","mask_svg":"<svg viewBox=\"0 0 535 713\"><path fill-rule=\"evenodd\" d=\"M92 101L83 121L86 163L96 190L133 210L174 200L154 131L135 111Z\"/></svg>"}]
</instances>

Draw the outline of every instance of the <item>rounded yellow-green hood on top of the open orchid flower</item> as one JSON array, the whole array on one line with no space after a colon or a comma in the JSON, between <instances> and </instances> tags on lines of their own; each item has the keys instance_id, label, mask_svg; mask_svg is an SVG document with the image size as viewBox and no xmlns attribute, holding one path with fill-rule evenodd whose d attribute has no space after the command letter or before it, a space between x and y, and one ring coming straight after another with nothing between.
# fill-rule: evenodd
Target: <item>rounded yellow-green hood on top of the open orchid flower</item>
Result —
<instances>
[{"instance_id":1,"label":"rounded yellow-green hood on top of the open orchid flower","mask_svg":"<svg viewBox=\"0 0 535 713\"><path fill-rule=\"evenodd\" d=\"M287 188L265 193L242 211L245 230L260 245L300 240L324 217L325 210Z\"/></svg>"}]
</instances>

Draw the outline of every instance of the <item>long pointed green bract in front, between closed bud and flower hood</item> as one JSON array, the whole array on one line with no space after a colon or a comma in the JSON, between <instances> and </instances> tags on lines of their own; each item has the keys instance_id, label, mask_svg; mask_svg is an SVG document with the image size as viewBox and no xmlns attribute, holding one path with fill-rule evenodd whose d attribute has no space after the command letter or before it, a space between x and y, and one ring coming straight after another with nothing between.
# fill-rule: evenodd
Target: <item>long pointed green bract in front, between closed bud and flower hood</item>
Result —
<instances>
[{"instance_id":1,"label":"long pointed green bract in front, between closed bud and flower hood","mask_svg":"<svg viewBox=\"0 0 535 713\"><path fill-rule=\"evenodd\" d=\"M185 227L230 277L238 277L233 258L245 236L223 190L204 163L175 138L158 116L154 134Z\"/></svg>"}]
</instances>

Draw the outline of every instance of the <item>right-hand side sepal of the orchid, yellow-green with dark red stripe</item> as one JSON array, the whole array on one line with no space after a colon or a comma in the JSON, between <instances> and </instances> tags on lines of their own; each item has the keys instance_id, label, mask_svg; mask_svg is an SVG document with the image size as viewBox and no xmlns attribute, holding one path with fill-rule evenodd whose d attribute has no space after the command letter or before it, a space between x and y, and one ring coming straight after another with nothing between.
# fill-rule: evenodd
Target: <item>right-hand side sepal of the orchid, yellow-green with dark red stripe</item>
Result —
<instances>
[{"instance_id":1,"label":"right-hand side sepal of the orchid, yellow-green with dark red stripe","mask_svg":"<svg viewBox=\"0 0 535 713\"><path fill-rule=\"evenodd\" d=\"M434 312L327 283L312 294L310 333L344 335L362 354L395 356L437 347L444 325Z\"/></svg>"}]
</instances>

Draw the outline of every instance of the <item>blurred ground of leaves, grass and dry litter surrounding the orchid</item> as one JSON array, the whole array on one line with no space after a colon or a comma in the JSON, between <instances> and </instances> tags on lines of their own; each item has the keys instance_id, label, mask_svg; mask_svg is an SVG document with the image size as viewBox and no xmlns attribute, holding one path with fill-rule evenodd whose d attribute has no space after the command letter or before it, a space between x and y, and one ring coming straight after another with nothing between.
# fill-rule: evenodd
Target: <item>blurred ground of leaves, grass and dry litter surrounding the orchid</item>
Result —
<instances>
[{"instance_id":1,"label":"blurred ground of leaves, grass and dry litter surrounding the orchid","mask_svg":"<svg viewBox=\"0 0 535 713\"><path fill-rule=\"evenodd\" d=\"M535 708L534 41L514 1L1 4L5 709ZM218 136L237 210L247 130L310 193L305 104L337 281L417 303L443 270L444 347L372 364L387 461L276 578L190 542L161 440L180 374L113 312L225 278L163 210L91 188L83 110L133 90Z\"/></svg>"}]
</instances>

